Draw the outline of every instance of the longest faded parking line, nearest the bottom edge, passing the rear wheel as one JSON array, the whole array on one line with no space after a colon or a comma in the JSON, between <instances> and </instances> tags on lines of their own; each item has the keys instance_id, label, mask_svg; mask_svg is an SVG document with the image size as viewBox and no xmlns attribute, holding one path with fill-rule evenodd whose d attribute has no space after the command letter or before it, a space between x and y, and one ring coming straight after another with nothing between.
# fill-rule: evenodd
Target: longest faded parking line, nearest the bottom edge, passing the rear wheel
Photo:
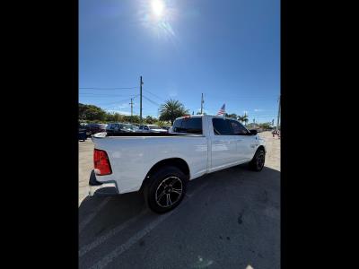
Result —
<instances>
[{"instance_id":1,"label":"longest faded parking line, nearest the bottom edge, passing the rear wheel","mask_svg":"<svg viewBox=\"0 0 359 269\"><path fill-rule=\"evenodd\" d=\"M206 182L206 184L204 184L202 187L200 187L199 189L197 189L196 191L194 191L192 193L191 196L199 193L201 190L203 190L206 186L208 186L208 182ZM107 256L104 256L99 262L97 262L96 264L92 265L91 269L94 268L104 268L106 265L109 265L109 263L111 263L113 261L113 259L115 259L117 256L121 255L122 253L124 253L128 248L132 247L134 244L136 244L136 242L140 239L142 239L146 234L148 234L151 230L153 230L157 225L159 225L162 221L166 220L167 218L169 218L171 216L172 213L176 213L178 212L178 209L180 209L180 207L182 207L184 204L188 203L188 201L190 200L190 198L184 199L183 202L178 206L177 210L173 210L169 213L166 213L164 215L161 215L158 219L156 219L155 221L151 222L150 224L148 224L146 227L144 227L143 230L140 230L138 232L136 232L136 234L134 236L132 236L130 239L128 239L126 241L126 243L116 247L114 250L112 250Z\"/></svg>"}]
</instances>

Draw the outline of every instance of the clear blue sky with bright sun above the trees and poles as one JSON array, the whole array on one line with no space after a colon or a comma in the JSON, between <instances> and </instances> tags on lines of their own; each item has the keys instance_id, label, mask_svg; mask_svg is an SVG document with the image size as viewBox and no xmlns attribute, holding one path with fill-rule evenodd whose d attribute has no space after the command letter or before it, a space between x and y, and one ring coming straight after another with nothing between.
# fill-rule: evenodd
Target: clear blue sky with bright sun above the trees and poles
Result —
<instances>
[{"instance_id":1,"label":"clear blue sky with bright sun above the trees and poles","mask_svg":"<svg viewBox=\"0 0 359 269\"><path fill-rule=\"evenodd\" d=\"M174 99L196 114L276 123L279 0L80 0L79 102L159 116Z\"/></svg>"}]
</instances>

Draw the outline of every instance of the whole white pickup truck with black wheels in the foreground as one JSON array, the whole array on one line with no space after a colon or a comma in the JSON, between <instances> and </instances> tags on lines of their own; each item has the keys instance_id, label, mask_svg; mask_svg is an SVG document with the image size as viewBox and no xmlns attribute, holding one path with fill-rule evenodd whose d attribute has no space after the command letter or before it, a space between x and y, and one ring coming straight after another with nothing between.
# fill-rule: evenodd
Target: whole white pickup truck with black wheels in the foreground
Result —
<instances>
[{"instance_id":1,"label":"whole white pickup truck with black wheels in the foreground","mask_svg":"<svg viewBox=\"0 0 359 269\"><path fill-rule=\"evenodd\" d=\"M266 156L257 131L228 117L179 117L168 134L100 133L92 141L96 176L90 186L114 183L118 194L142 191L156 213L180 204L188 180L245 162L260 171Z\"/></svg>"}]
</instances>

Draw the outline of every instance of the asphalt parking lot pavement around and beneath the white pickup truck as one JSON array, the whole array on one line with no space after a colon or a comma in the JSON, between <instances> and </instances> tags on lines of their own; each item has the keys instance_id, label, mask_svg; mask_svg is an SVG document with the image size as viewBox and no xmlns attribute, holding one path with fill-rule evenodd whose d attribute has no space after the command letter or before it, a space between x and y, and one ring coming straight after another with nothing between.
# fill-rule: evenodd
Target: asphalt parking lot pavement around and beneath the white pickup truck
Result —
<instances>
[{"instance_id":1,"label":"asphalt parking lot pavement around and beneath the white pickup truck","mask_svg":"<svg viewBox=\"0 0 359 269\"><path fill-rule=\"evenodd\" d=\"M280 268L280 140L260 135L261 172L240 165L194 179L162 215L137 193L87 196L93 144L79 142L80 268Z\"/></svg>"}]
</instances>

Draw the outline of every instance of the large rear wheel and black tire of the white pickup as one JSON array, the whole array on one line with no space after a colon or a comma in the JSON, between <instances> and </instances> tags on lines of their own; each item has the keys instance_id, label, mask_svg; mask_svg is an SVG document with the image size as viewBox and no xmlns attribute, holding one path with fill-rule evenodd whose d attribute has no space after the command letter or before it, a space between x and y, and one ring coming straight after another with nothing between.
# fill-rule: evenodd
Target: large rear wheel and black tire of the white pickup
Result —
<instances>
[{"instance_id":1,"label":"large rear wheel and black tire of the white pickup","mask_svg":"<svg viewBox=\"0 0 359 269\"><path fill-rule=\"evenodd\" d=\"M180 204L186 194L187 177L172 166L163 167L153 174L144 187L144 201L155 213L166 213Z\"/></svg>"}]
</instances>

